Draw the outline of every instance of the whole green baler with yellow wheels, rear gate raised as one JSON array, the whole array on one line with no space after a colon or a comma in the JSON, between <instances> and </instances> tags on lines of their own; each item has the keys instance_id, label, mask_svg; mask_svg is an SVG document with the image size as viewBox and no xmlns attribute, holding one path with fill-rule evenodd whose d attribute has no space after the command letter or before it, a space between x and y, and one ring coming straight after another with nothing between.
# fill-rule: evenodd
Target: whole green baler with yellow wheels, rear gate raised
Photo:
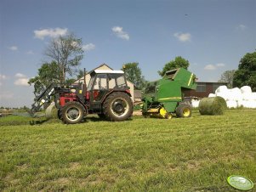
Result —
<instances>
[{"instance_id":1,"label":"whole green baler with yellow wheels, rear gate raised","mask_svg":"<svg viewBox=\"0 0 256 192\"><path fill-rule=\"evenodd\" d=\"M196 76L183 68L167 71L162 79L148 82L142 98L143 116L190 117L191 105L183 99L188 89L196 89Z\"/></svg>"}]
</instances>

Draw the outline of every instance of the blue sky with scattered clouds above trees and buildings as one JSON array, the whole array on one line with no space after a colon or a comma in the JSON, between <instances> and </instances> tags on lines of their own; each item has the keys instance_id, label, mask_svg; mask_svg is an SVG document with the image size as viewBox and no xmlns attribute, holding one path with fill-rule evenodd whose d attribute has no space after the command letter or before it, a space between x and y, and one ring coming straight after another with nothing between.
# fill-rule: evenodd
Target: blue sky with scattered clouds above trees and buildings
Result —
<instances>
[{"instance_id":1,"label":"blue sky with scattered clouds above trees and buildings","mask_svg":"<svg viewBox=\"0 0 256 192\"><path fill-rule=\"evenodd\" d=\"M200 82L217 82L256 48L256 0L1 0L0 106L31 106L29 78L51 38L82 38L80 69L138 62L146 80L182 56Z\"/></svg>"}]
</instances>

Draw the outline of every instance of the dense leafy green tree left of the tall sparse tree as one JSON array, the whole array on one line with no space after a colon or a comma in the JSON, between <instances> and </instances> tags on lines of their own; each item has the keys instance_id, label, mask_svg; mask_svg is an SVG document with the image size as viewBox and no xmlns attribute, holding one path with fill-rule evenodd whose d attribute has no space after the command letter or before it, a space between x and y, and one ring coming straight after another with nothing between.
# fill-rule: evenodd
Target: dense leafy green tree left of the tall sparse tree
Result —
<instances>
[{"instance_id":1,"label":"dense leafy green tree left of the tall sparse tree","mask_svg":"<svg viewBox=\"0 0 256 192\"><path fill-rule=\"evenodd\" d=\"M38 69L37 74L28 81L30 85L34 84L34 94L36 96L40 95L51 83L60 83L60 68L55 61L44 63Z\"/></svg>"}]
</instances>

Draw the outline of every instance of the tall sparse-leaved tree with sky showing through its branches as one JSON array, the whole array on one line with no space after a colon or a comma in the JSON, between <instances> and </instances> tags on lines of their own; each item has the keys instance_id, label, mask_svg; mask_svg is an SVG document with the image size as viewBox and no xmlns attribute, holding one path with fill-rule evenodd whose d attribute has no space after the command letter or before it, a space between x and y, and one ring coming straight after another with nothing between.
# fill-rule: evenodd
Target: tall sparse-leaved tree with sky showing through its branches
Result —
<instances>
[{"instance_id":1,"label":"tall sparse-leaved tree with sky showing through its branches","mask_svg":"<svg viewBox=\"0 0 256 192\"><path fill-rule=\"evenodd\" d=\"M60 83L64 83L66 73L70 76L74 75L75 67L83 58L82 39L73 34L54 38L49 43L45 55L59 66Z\"/></svg>"}]
</instances>

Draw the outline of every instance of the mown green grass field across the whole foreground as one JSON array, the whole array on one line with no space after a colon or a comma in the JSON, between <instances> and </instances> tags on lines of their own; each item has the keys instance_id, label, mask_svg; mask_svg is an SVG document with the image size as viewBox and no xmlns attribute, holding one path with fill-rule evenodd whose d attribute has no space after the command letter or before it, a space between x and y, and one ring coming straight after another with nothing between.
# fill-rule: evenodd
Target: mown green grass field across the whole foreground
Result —
<instances>
[{"instance_id":1,"label":"mown green grass field across the whole foreground","mask_svg":"<svg viewBox=\"0 0 256 192\"><path fill-rule=\"evenodd\" d=\"M9 118L0 119L2 191L215 192L237 191L232 174L256 181L256 110L77 125Z\"/></svg>"}]
</instances>

